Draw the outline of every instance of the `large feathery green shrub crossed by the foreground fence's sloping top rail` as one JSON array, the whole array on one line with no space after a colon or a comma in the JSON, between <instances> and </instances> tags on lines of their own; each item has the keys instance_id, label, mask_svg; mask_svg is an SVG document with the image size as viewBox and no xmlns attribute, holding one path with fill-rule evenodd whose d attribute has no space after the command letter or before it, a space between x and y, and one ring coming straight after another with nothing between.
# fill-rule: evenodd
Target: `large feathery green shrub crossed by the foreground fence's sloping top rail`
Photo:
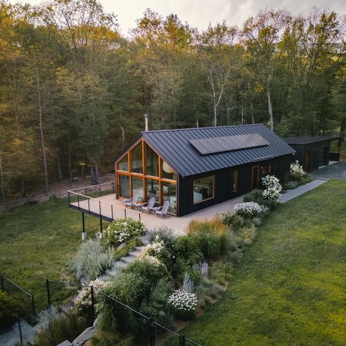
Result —
<instances>
[{"instance_id":1,"label":"large feathery green shrub crossed by the foreground fence's sloping top rail","mask_svg":"<svg viewBox=\"0 0 346 346\"><path fill-rule=\"evenodd\" d=\"M165 307L170 291L168 282L169 274L165 266L135 261L120 272L105 293L156 321L167 323L169 314L166 315ZM147 338L147 322L105 295L100 295L98 313L98 323L103 330L116 329L122 334L131 333L142 341Z\"/></svg>"}]
</instances>

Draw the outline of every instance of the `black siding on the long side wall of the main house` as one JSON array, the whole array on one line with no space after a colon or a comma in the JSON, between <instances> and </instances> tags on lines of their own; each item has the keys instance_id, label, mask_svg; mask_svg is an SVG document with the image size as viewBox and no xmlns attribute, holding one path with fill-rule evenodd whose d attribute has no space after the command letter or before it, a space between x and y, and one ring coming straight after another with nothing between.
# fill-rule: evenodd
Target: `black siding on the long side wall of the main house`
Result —
<instances>
[{"instance_id":1,"label":"black siding on the long side wall of the main house","mask_svg":"<svg viewBox=\"0 0 346 346\"><path fill-rule=\"evenodd\" d=\"M253 165L260 165L261 174L260 176L265 176L262 174L262 167L268 165L272 166L271 174L277 176L280 180L283 179L284 174L289 172L289 165L291 163L291 155L281 156L275 159L261 161L258 163L251 163L246 165L239 165L237 167L229 167L223 170L215 170L212 172L204 174L196 174L193 176L181 177L179 176L178 183L178 216L183 216L190 214L190 212L195 212L203 208L208 208L214 206L217 203L227 201L228 199L233 199L235 197L241 196L251 191L251 174ZM229 172L233 170L238 170L238 189L237 192L232 192L232 188L229 185ZM200 203L193 203L193 180L201 178L203 176L215 175L215 197L207 201L202 201Z\"/></svg>"}]
</instances>

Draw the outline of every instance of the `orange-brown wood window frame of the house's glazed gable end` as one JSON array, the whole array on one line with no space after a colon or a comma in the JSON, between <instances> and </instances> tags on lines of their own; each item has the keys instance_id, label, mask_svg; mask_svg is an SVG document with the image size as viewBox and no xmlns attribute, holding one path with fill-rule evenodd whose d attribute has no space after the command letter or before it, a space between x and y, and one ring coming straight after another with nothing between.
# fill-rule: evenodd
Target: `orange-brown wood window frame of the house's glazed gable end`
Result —
<instances>
[{"instance_id":1,"label":"orange-brown wood window frame of the house's glazed gable end","mask_svg":"<svg viewBox=\"0 0 346 346\"><path fill-rule=\"evenodd\" d=\"M136 172L131 172L131 150L134 149L134 147L136 147L139 143L141 143L142 145L142 165L143 165L143 174L141 173L136 173ZM151 176L151 175L147 175L147 167L145 165L145 145L148 145L153 152L158 156L158 176ZM129 172L127 171L122 171L122 170L118 170L117 166L120 160L122 160L122 158L124 158L124 156L127 155L128 161L129 161ZM162 178L162 174L161 174L161 161L165 161L163 160L163 158L161 158L161 156L156 152L156 150L149 145L149 143L147 143L143 138L140 138L139 140L137 140L135 143L133 143L133 145L131 145L131 147L129 147L129 149L127 149L127 152L125 152L124 154L122 154L122 156L120 156L118 158L118 160L115 162L115 169L116 169L116 198L117 199L125 199L124 197L120 197L119 196L119 174L122 175L127 175L130 177L129 180L129 184L130 184L130 198L133 197L132 194L132 176L136 176L136 178L142 178L143 179L143 192L144 192L144 202L147 202L147 179L154 179L156 181L158 181L158 185L159 185L159 203L162 206L163 205L163 190L162 190L162 183L174 183L175 184L175 193L176 193L176 213L169 213L170 215L176 215L178 213L178 205L179 205L179 199L178 199L178 174L174 171L174 175L176 177L176 180L174 179L166 179L166 178ZM170 167L172 167L170 165Z\"/></svg>"}]
</instances>

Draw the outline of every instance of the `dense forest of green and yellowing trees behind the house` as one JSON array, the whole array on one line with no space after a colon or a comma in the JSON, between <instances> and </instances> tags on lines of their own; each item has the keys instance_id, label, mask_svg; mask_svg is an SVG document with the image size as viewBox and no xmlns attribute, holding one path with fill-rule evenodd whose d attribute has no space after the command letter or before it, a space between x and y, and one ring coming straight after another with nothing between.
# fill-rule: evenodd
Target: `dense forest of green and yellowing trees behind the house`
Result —
<instances>
[{"instance_id":1,"label":"dense forest of green and yellowing trees behind the house","mask_svg":"<svg viewBox=\"0 0 346 346\"><path fill-rule=\"evenodd\" d=\"M263 122L345 136L345 17L263 8L197 30L147 9L128 35L97 0L0 0L0 191L111 172L144 129Z\"/></svg>"}]
</instances>

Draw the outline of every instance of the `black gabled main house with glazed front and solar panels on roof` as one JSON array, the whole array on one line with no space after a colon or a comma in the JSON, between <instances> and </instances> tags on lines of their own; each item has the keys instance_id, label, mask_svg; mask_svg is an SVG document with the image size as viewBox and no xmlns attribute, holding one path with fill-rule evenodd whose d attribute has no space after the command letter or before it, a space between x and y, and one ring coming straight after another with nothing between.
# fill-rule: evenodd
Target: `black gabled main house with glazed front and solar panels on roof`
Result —
<instances>
[{"instance_id":1,"label":"black gabled main house with glazed front and solar panels on roof","mask_svg":"<svg viewBox=\"0 0 346 346\"><path fill-rule=\"evenodd\" d=\"M262 124L143 131L116 158L116 197L155 197L182 216L289 171L294 150Z\"/></svg>"}]
</instances>

